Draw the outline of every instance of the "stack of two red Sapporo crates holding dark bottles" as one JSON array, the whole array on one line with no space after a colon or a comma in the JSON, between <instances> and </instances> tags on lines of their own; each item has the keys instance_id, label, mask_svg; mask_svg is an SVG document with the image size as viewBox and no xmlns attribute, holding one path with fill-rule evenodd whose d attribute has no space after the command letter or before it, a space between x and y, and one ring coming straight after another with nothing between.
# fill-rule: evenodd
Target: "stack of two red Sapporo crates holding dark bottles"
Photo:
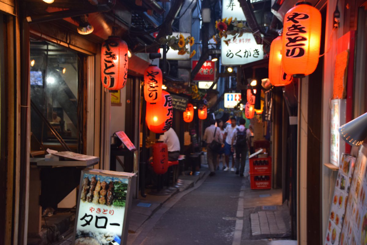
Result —
<instances>
[{"instance_id":1,"label":"stack of two red Sapporo crates holding dark bottles","mask_svg":"<svg viewBox=\"0 0 367 245\"><path fill-rule=\"evenodd\" d=\"M272 158L250 158L251 189L270 189L272 177Z\"/></svg>"}]
</instances>

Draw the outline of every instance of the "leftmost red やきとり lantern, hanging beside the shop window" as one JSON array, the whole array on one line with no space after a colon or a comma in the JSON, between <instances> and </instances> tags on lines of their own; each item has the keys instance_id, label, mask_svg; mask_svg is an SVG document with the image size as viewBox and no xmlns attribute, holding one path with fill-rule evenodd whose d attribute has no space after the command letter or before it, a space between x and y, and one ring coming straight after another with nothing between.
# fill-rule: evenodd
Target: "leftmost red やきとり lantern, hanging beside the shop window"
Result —
<instances>
[{"instance_id":1,"label":"leftmost red \u3084\u304d\u3068\u308a lantern, hanging beside the shop window","mask_svg":"<svg viewBox=\"0 0 367 245\"><path fill-rule=\"evenodd\" d=\"M127 44L120 37L110 36L101 49L101 79L103 87L120 90L127 79Z\"/></svg>"}]
</instances>

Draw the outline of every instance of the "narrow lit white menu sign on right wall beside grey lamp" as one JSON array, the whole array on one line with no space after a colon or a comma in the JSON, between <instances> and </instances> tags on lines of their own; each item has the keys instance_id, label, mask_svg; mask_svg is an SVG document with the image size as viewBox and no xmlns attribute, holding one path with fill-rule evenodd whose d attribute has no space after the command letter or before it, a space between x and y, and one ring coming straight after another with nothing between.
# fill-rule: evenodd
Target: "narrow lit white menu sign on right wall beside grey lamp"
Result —
<instances>
[{"instance_id":1,"label":"narrow lit white menu sign on right wall beside grey lamp","mask_svg":"<svg viewBox=\"0 0 367 245\"><path fill-rule=\"evenodd\" d=\"M339 127L345 124L346 100L331 100L330 163L339 167L345 141L339 136Z\"/></svg>"}]
</instances>

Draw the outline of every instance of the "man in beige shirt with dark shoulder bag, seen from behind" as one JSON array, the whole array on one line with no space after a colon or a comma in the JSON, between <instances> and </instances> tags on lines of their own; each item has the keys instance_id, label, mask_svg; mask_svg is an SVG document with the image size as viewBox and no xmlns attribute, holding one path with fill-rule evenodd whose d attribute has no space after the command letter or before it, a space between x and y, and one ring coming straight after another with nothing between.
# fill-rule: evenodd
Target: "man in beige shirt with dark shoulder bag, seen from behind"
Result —
<instances>
[{"instance_id":1,"label":"man in beige shirt with dark shoulder bag, seen from behind","mask_svg":"<svg viewBox=\"0 0 367 245\"><path fill-rule=\"evenodd\" d=\"M221 130L219 129L219 127L215 126L215 120L214 119L209 119L210 122L210 126L207 127L204 131L204 136L203 136L203 140L206 141L207 143L207 161L208 161L208 165L209 165L209 170L210 170L210 174L209 176L213 176L215 175L215 169L217 169L217 165L218 165L218 151L213 151L210 148L210 145L212 143L212 141L217 141L219 144L222 144L223 141L223 137L221 134Z\"/></svg>"}]
</instances>

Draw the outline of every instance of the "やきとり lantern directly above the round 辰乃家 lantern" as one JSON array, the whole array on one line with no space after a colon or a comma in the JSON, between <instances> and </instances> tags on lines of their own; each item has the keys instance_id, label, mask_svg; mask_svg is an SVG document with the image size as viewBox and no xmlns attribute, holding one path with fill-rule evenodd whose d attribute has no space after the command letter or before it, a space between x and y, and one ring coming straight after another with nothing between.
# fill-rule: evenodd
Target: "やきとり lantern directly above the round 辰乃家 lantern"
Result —
<instances>
[{"instance_id":1,"label":"\u3084\u304d\u3068\u308a lantern directly above the round \u8fb0\u4e43\u5bb6 lantern","mask_svg":"<svg viewBox=\"0 0 367 245\"><path fill-rule=\"evenodd\" d=\"M148 103L160 100L162 94L162 71L156 65L149 65L144 72L144 98Z\"/></svg>"}]
</instances>

